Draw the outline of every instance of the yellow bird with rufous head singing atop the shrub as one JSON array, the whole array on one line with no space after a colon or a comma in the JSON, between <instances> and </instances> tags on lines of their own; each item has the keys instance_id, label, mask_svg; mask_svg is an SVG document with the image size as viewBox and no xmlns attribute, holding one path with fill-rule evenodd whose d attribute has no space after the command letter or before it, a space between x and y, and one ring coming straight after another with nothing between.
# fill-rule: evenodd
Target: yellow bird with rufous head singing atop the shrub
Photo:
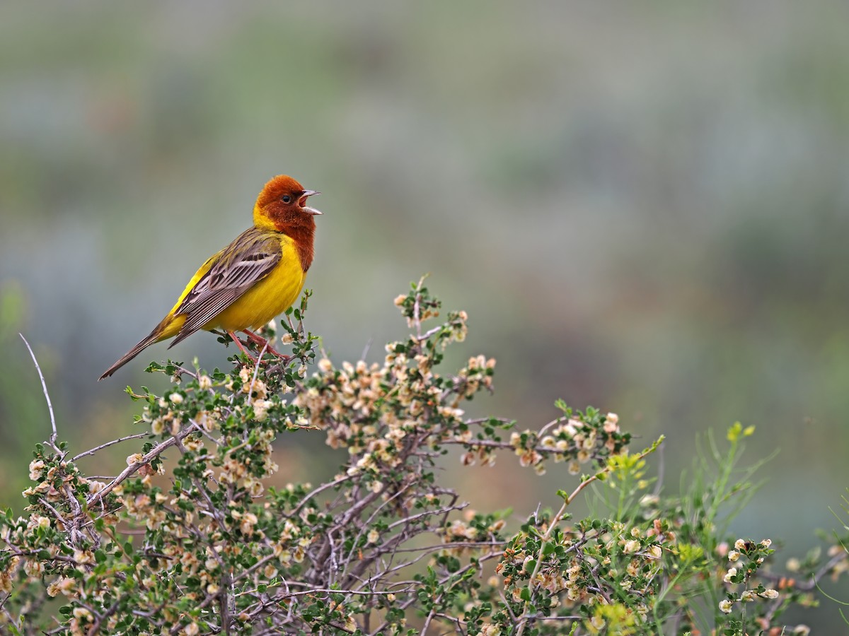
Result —
<instances>
[{"instance_id":1,"label":"yellow bird with rufous head singing atop the shrub","mask_svg":"<svg viewBox=\"0 0 849 636\"><path fill-rule=\"evenodd\" d=\"M312 265L315 217L322 214L306 203L318 193L288 175L268 181L254 204L254 225L200 265L166 317L99 379L153 343L174 337L171 349L200 329L222 329L251 358L235 332L270 349L250 329L289 309L301 293Z\"/></svg>"}]
</instances>

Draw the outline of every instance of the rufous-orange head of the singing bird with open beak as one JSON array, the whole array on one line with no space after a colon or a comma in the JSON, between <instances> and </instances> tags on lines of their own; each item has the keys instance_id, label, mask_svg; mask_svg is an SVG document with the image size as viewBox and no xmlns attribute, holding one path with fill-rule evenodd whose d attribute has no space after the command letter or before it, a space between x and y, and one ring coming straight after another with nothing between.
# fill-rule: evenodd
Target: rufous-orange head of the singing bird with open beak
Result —
<instances>
[{"instance_id":1,"label":"rufous-orange head of the singing bird with open beak","mask_svg":"<svg viewBox=\"0 0 849 636\"><path fill-rule=\"evenodd\" d=\"M318 194L307 190L288 175L278 175L268 181L256 198L254 225L278 232L312 232L318 209L306 205L306 199Z\"/></svg>"}]
</instances>

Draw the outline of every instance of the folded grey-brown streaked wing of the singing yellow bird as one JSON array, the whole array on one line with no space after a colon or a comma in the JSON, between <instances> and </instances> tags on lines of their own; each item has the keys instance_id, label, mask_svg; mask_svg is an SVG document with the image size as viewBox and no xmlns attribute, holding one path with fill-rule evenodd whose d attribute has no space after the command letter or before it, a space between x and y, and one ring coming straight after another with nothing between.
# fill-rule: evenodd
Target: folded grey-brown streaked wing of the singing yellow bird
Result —
<instances>
[{"instance_id":1,"label":"folded grey-brown streaked wing of the singing yellow bird","mask_svg":"<svg viewBox=\"0 0 849 636\"><path fill-rule=\"evenodd\" d=\"M227 248L213 257L215 262L188 291L174 315L186 321L170 347L198 331L236 299L261 281L280 262L280 242L256 228L242 233Z\"/></svg>"}]
</instances>

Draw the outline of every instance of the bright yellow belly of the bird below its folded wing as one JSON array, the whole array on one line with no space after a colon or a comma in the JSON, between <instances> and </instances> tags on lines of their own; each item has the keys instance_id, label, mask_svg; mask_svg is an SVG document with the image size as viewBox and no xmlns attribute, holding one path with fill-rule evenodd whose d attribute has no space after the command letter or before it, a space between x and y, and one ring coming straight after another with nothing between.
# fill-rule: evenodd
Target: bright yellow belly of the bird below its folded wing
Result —
<instances>
[{"instance_id":1,"label":"bright yellow belly of the bird below its folded wing","mask_svg":"<svg viewBox=\"0 0 849 636\"><path fill-rule=\"evenodd\" d=\"M304 287L306 272L295 249L284 248L283 259L256 285L237 298L226 310L204 325L204 329L238 332L259 328L288 310Z\"/></svg>"}]
</instances>

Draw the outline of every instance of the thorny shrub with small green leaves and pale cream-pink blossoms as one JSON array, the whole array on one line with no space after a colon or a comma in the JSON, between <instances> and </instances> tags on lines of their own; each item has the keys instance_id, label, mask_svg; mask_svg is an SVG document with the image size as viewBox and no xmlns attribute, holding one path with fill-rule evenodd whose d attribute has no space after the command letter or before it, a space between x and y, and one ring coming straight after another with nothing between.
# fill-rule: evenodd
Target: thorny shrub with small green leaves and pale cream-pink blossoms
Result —
<instances>
[{"instance_id":1,"label":"thorny shrub with small green leaves and pale cream-pink blossoms","mask_svg":"<svg viewBox=\"0 0 849 636\"><path fill-rule=\"evenodd\" d=\"M382 364L323 357L307 298L282 324L289 360L150 365L172 385L128 390L142 432L78 455L53 426L26 516L0 519L3 633L781 633L784 611L846 567L838 551L779 577L768 540L728 537L728 508L751 494L734 471L751 428L729 430L689 491L661 496L646 460L662 438L632 451L613 413L558 402L538 430L466 417L495 360L440 371L467 316L426 328L440 304L423 281L396 298L412 333ZM344 452L338 473L271 488L273 442L306 434ZM119 475L82 474L83 456L125 441L141 448ZM452 447L463 465L507 453L571 485L557 510L520 519L466 510L440 471ZM600 514L573 521L582 494Z\"/></svg>"}]
</instances>

